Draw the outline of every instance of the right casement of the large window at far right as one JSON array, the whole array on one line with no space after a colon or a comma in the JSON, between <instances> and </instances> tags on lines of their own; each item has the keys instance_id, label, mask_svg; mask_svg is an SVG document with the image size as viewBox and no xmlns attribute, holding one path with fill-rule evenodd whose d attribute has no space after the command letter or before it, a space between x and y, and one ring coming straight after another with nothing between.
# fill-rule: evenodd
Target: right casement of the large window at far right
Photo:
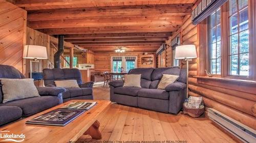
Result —
<instances>
[{"instance_id":1,"label":"right casement of the large window at far right","mask_svg":"<svg viewBox=\"0 0 256 143\"><path fill-rule=\"evenodd\" d=\"M229 1L229 74L249 75L248 0Z\"/></svg>"}]
</instances>

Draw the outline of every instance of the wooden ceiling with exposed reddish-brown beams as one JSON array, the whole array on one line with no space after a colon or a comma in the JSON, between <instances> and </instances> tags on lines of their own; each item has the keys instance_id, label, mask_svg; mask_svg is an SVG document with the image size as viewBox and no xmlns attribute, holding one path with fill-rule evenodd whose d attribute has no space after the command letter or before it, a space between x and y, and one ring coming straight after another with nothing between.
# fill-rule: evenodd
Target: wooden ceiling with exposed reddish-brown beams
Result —
<instances>
[{"instance_id":1,"label":"wooden ceiling with exposed reddish-brown beams","mask_svg":"<svg viewBox=\"0 0 256 143\"><path fill-rule=\"evenodd\" d=\"M194 0L23 0L28 26L94 52L156 51L177 31Z\"/></svg>"}]
</instances>

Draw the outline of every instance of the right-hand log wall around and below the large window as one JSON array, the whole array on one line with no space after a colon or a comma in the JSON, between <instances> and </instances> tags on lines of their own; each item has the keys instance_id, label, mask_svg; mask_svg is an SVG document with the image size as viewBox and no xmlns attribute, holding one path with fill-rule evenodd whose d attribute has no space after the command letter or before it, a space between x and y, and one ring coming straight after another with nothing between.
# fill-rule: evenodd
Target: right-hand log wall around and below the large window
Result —
<instances>
[{"instance_id":1,"label":"right-hand log wall around and below the large window","mask_svg":"<svg viewBox=\"0 0 256 143\"><path fill-rule=\"evenodd\" d=\"M203 97L206 107L215 108L255 130L255 82L202 76L205 67L200 65L204 65L205 58L202 57L205 57L205 55L199 55L199 53L205 53L207 47L199 47L199 45L205 45L205 43L202 43L205 42L205 37L200 37L201 31L205 32L204 29L201 29L205 28L205 23L193 25L190 17L184 19L184 23L177 31L181 35L181 45L194 44L197 46L198 53L198 58L189 62L189 96ZM174 37L171 37L167 44L172 38ZM204 38L204 40L200 38ZM166 66L172 66L172 51L169 48L166 51ZM186 68L184 61L180 64L181 68Z\"/></svg>"}]
</instances>

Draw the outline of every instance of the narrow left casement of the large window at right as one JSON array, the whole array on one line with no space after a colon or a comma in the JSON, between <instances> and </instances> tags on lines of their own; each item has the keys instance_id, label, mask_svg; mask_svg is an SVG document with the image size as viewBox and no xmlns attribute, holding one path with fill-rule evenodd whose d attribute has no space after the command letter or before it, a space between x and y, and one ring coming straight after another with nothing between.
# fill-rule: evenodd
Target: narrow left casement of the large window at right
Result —
<instances>
[{"instance_id":1,"label":"narrow left casement of the large window at right","mask_svg":"<svg viewBox=\"0 0 256 143\"><path fill-rule=\"evenodd\" d=\"M221 74L221 9L209 16L209 72Z\"/></svg>"}]
</instances>

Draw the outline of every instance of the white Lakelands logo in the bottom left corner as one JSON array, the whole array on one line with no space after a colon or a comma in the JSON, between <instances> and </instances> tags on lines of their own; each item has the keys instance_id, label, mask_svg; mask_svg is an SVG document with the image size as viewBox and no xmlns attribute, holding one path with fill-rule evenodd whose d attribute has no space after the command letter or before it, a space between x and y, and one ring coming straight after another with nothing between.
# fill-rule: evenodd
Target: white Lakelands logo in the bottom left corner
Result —
<instances>
[{"instance_id":1,"label":"white Lakelands logo in the bottom left corner","mask_svg":"<svg viewBox=\"0 0 256 143\"><path fill-rule=\"evenodd\" d=\"M0 142L23 142L24 139L26 138L25 134L13 134L10 133L10 131L5 130L5 131L0 131Z\"/></svg>"}]
</instances>

